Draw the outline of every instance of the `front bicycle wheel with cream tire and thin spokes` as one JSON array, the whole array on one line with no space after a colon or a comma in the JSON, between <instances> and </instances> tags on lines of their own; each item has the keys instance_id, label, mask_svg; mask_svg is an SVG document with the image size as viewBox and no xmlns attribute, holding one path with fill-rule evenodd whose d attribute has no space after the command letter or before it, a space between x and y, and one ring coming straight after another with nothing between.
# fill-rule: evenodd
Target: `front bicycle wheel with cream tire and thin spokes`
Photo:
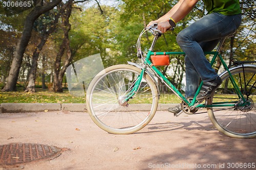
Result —
<instances>
[{"instance_id":1,"label":"front bicycle wheel with cream tire and thin spokes","mask_svg":"<svg viewBox=\"0 0 256 170\"><path fill-rule=\"evenodd\" d=\"M150 123L158 107L159 94L155 82L145 72L143 85L134 99L130 99L127 106L120 104L120 99L129 93L140 74L140 68L121 64L102 70L92 80L86 103L98 127L112 134L131 134Z\"/></svg>"}]
</instances>

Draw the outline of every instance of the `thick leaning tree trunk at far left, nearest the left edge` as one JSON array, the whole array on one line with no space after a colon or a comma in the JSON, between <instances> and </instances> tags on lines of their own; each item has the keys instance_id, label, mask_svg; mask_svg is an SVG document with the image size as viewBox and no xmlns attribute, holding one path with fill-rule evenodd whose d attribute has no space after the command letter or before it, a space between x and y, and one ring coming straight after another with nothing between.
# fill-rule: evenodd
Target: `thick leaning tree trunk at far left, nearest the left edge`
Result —
<instances>
[{"instance_id":1,"label":"thick leaning tree trunk at far left, nearest the left edge","mask_svg":"<svg viewBox=\"0 0 256 170\"><path fill-rule=\"evenodd\" d=\"M40 2L40 0L36 1L37 3ZM38 6L36 5L35 8L28 14L25 24L22 36L20 37L16 50L13 55L13 60L11 64L11 69L9 71L9 76L7 78L7 83L3 89L3 91L14 91L16 90L16 83L18 80L19 75L19 69L22 65L23 55L26 50L26 47L29 43L29 39L31 37L31 32L33 29L33 23L42 13L45 13L52 8L54 8L56 5L58 5L61 2L61 0L52 1L51 3L48 3L44 6ZM37 4L36 3L36 4Z\"/></svg>"}]
</instances>

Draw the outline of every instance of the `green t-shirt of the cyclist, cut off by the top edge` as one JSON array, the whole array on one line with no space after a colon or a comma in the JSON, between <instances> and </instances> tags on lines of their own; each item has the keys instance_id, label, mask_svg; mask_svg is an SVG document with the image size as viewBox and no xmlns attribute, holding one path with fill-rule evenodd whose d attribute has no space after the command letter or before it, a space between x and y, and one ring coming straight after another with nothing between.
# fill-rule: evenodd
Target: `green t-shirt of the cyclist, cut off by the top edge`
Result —
<instances>
[{"instance_id":1,"label":"green t-shirt of the cyclist, cut off by the top edge","mask_svg":"<svg viewBox=\"0 0 256 170\"><path fill-rule=\"evenodd\" d=\"M203 0L208 14L218 12L223 15L236 15L241 13L239 0Z\"/></svg>"}]
</instances>

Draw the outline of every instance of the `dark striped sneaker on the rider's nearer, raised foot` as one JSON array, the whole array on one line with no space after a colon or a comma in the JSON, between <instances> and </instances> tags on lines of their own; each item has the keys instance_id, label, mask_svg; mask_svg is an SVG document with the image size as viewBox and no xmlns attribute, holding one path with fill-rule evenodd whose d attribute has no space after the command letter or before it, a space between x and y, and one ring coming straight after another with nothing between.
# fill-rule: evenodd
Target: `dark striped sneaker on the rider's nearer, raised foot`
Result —
<instances>
[{"instance_id":1,"label":"dark striped sneaker on the rider's nearer, raised foot","mask_svg":"<svg viewBox=\"0 0 256 170\"><path fill-rule=\"evenodd\" d=\"M215 92L221 83L222 80L219 76L215 80L204 82L199 94L197 95L197 101L208 99L211 96L211 93Z\"/></svg>"}]
</instances>

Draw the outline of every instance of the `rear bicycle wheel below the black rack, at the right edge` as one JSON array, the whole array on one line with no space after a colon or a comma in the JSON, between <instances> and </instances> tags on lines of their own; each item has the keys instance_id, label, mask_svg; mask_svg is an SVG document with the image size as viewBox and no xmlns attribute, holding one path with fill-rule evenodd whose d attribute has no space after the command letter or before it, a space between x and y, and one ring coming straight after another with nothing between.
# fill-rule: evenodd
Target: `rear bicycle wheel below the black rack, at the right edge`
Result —
<instances>
[{"instance_id":1,"label":"rear bicycle wheel below the black rack, at the right edge","mask_svg":"<svg viewBox=\"0 0 256 170\"><path fill-rule=\"evenodd\" d=\"M248 101L247 107L207 108L209 118L223 134L234 138L256 137L256 67L238 67L230 71L239 89ZM213 93L208 105L214 102L241 102L231 85L228 72L221 76L223 80L217 93ZM245 88L246 87L246 88ZM218 93L218 91L222 91ZM223 97L224 96L224 97ZM221 111L218 111L221 110Z\"/></svg>"}]
</instances>

